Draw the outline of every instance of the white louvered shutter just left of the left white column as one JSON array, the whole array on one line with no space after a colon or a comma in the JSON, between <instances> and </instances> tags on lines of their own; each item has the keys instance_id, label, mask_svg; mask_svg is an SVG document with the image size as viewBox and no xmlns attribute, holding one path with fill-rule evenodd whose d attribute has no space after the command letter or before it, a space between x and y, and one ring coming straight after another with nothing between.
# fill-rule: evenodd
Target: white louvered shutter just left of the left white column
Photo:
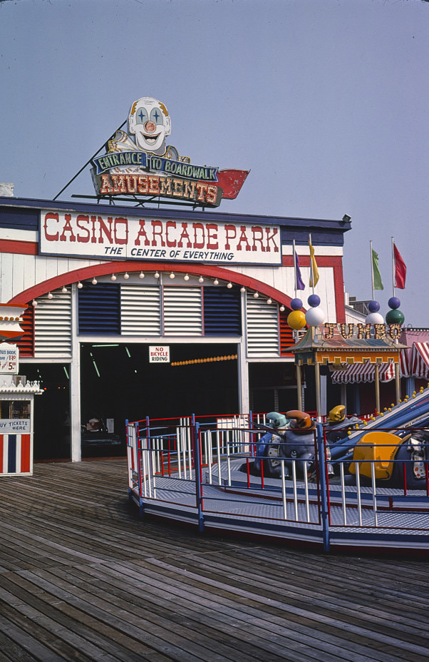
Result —
<instances>
[{"instance_id":1,"label":"white louvered shutter just left of the left white column","mask_svg":"<svg viewBox=\"0 0 429 662\"><path fill-rule=\"evenodd\" d=\"M34 356L71 357L71 292L38 297L34 310Z\"/></svg>"}]
</instances>

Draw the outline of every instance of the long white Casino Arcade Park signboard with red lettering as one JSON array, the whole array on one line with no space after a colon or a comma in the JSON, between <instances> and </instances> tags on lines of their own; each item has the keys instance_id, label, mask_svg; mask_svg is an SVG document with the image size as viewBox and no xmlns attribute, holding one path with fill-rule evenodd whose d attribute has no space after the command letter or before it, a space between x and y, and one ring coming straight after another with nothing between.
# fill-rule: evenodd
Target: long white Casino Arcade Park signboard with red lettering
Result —
<instances>
[{"instance_id":1,"label":"long white Casino Arcade Park signboard with red lettering","mask_svg":"<svg viewBox=\"0 0 429 662\"><path fill-rule=\"evenodd\" d=\"M41 210L41 255L105 260L281 264L279 225Z\"/></svg>"}]
</instances>

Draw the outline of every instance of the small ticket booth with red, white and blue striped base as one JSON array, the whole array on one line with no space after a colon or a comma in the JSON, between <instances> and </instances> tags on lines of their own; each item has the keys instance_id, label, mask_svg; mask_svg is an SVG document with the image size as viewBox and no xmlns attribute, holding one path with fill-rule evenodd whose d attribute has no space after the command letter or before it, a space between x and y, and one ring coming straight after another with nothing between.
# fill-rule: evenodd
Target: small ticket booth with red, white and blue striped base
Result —
<instances>
[{"instance_id":1,"label":"small ticket booth with red, white and blue striped base","mask_svg":"<svg viewBox=\"0 0 429 662\"><path fill-rule=\"evenodd\" d=\"M33 399L38 382L18 375L18 349L0 344L0 476L33 473Z\"/></svg>"}]
</instances>

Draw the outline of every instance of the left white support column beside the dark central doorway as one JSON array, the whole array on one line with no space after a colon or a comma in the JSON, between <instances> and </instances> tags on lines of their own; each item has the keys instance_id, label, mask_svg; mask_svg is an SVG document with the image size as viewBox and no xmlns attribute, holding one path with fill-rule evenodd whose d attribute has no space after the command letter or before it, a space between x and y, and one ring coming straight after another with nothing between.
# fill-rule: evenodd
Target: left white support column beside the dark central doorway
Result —
<instances>
[{"instance_id":1,"label":"left white support column beside the dark central doorway","mask_svg":"<svg viewBox=\"0 0 429 662\"><path fill-rule=\"evenodd\" d=\"M78 289L71 287L70 443L71 461L81 462L81 347L78 341Z\"/></svg>"}]
</instances>

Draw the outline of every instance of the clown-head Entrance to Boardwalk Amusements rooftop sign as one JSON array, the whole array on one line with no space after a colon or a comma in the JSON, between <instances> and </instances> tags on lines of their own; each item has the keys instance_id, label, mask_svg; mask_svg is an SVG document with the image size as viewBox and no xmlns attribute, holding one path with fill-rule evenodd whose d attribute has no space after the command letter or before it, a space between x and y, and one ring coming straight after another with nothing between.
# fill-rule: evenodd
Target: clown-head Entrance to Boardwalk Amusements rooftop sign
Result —
<instances>
[{"instance_id":1,"label":"clown-head Entrance to Boardwalk Amusements rooftop sign","mask_svg":"<svg viewBox=\"0 0 429 662\"><path fill-rule=\"evenodd\" d=\"M171 132L167 108L154 98L133 103L128 133L117 131L105 155L93 158L95 192L171 198L218 207L222 198L237 198L249 170L219 170L191 163L166 138Z\"/></svg>"}]
</instances>

